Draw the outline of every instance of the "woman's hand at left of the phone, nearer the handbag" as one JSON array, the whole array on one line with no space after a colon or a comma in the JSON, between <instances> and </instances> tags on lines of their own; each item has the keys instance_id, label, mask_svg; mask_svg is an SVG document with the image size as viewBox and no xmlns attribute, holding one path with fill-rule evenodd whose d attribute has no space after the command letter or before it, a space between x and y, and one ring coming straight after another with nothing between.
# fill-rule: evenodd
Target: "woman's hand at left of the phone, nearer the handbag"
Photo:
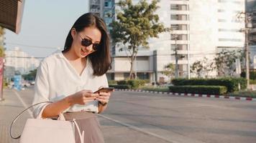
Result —
<instances>
[{"instance_id":1,"label":"woman's hand at left of the phone, nearer the handbag","mask_svg":"<svg viewBox=\"0 0 256 143\"><path fill-rule=\"evenodd\" d=\"M99 94L93 94L91 90L82 90L80 92L76 92L76 94L70 95L71 104L81 104L84 105L88 102L92 102L98 97Z\"/></svg>"}]
</instances>

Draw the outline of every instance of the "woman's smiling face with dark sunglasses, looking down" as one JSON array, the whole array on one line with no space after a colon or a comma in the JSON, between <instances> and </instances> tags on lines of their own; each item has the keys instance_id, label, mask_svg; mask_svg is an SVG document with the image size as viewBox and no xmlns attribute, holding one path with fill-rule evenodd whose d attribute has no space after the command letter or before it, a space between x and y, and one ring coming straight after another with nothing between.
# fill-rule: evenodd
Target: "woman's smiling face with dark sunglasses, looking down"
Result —
<instances>
[{"instance_id":1,"label":"woman's smiling face with dark sunglasses, looking down","mask_svg":"<svg viewBox=\"0 0 256 143\"><path fill-rule=\"evenodd\" d=\"M91 54L95 51L96 46L99 46L101 41L101 31L96 27L86 27L83 31L79 32L76 31L76 29L72 29L71 34L73 36L71 50L74 51L73 53L76 54L78 58L84 58L88 54Z\"/></svg>"}]
</instances>

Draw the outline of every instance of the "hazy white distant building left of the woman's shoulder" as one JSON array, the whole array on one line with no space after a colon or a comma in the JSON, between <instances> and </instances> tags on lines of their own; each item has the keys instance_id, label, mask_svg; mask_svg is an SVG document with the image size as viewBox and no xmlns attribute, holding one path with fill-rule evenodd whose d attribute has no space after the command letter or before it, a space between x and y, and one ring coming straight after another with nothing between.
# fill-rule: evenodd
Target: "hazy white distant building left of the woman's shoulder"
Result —
<instances>
[{"instance_id":1,"label":"hazy white distant building left of the woman's shoulder","mask_svg":"<svg viewBox=\"0 0 256 143\"><path fill-rule=\"evenodd\" d=\"M33 56L25 53L19 47L15 47L14 50L5 51L5 74L12 77L14 71L19 71L21 74L28 74L29 71L37 69L40 64L40 60L35 59Z\"/></svg>"}]
</instances>

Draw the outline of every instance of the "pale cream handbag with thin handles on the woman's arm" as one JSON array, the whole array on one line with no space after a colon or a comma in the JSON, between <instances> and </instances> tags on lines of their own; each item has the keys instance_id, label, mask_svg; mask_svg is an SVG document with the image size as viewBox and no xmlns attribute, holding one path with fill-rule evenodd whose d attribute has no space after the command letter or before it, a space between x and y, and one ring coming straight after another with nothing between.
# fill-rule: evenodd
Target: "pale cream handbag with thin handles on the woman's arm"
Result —
<instances>
[{"instance_id":1,"label":"pale cream handbag with thin handles on the woman's arm","mask_svg":"<svg viewBox=\"0 0 256 143\"><path fill-rule=\"evenodd\" d=\"M40 102L42 104L45 102ZM34 107L37 104L32 105ZM28 107L27 109L31 108ZM27 109L17 115L12 124L24 113ZM12 136L12 124L10 127L10 136L12 139L19 139L19 143L76 143L75 127L78 129L78 134L83 143L84 131L81 132L76 120L65 121L63 114L60 114L58 120L53 119L27 119L22 135L19 137Z\"/></svg>"}]
</instances>

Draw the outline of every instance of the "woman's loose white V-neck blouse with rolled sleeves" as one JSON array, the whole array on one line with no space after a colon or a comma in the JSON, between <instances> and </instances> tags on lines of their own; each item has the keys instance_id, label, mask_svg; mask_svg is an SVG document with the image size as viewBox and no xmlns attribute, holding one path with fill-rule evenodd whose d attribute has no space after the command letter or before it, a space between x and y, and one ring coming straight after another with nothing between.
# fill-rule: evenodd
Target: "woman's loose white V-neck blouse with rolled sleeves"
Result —
<instances>
[{"instance_id":1,"label":"woman's loose white V-neck blouse with rolled sleeves","mask_svg":"<svg viewBox=\"0 0 256 143\"><path fill-rule=\"evenodd\" d=\"M106 74L98 77L93 75L91 62L86 61L86 68L81 75L70 64L68 59L60 53L52 54L43 59L37 69L35 79L35 97L33 104L39 102L57 102L71 94L80 92L83 89L95 92L100 87L109 87ZM34 108L34 117L42 118L42 111L45 104L39 104ZM75 104L64 112L78 112L85 110L88 112L99 112L99 101L88 102L85 105Z\"/></svg>"}]
</instances>

